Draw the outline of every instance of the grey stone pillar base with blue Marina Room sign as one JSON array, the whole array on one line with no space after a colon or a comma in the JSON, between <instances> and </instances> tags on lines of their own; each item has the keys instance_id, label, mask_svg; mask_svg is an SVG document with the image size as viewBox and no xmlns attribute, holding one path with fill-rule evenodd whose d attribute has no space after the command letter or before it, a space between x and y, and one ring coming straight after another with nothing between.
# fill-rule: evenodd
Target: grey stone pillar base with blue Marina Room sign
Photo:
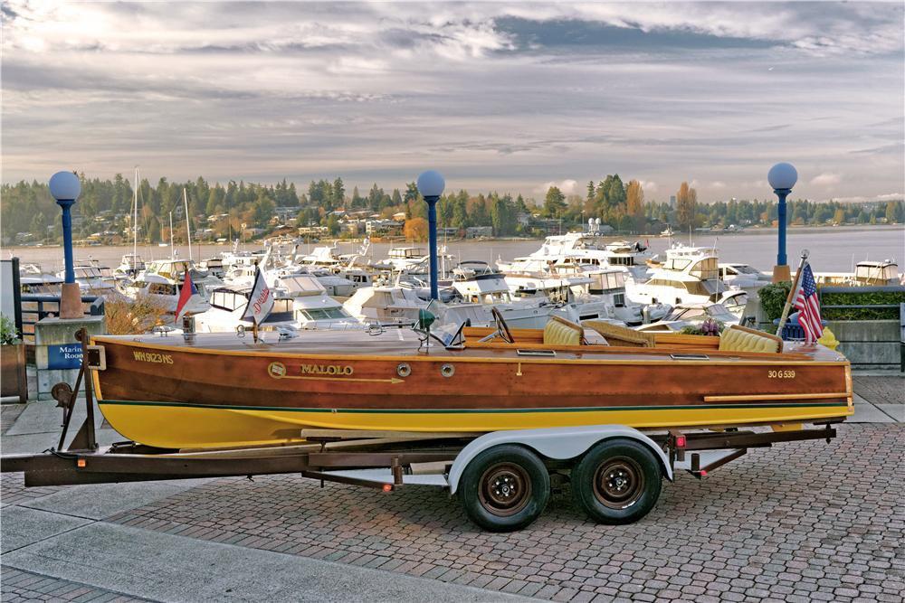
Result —
<instances>
[{"instance_id":1,"label":"grey stone pillar base with blue Marina Room sign","mask_svg":"<svg viewBox=\"0 0 905 603\"><path fill-rule=\"evenodd\" d=\"M38 377L38 400L52 400L51 389L59 382L75 386L81 366L81 344L75 338L79 329L89 335L106 332L103 316L82 318L43 318L34 325L34 363Z\"/></svg>"}]
</instances>

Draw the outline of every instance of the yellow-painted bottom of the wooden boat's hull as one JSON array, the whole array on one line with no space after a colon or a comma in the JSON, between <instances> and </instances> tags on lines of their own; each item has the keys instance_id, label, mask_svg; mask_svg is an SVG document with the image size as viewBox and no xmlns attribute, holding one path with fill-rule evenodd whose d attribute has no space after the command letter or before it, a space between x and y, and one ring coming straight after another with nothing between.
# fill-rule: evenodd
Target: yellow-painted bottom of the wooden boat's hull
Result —
<instances>
[{"instance_id":1,"label":"yellow-painted bottom of the wooden boat's hull","mask_svg":"<svg viewBox=\"0 0 905 603\"><path fill-rule=\"evenodd\" d=\"M625 409L543 410L274 410L201 408L153 402L100 401L113 429L126 438L159 448L225 448L302 441L300 429L381 429L391 431L498 431L629 425L634 428L735 426L795 423L853 414L847 404L710 405Z\"/></svg>"}]
</instances>

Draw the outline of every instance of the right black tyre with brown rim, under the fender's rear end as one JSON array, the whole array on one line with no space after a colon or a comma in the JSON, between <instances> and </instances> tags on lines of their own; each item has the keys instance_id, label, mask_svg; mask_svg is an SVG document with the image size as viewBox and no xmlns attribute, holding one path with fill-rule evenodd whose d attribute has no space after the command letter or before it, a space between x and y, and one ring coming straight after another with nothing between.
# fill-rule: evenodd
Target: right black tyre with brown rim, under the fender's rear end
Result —
<instances>
[{"instance_id":1,"label":"right black tyre with brown rim, under the fender's rear end","mask_svg":"<svg viewBox=\"0 0 905 603\"><path fill-rule=\"evenodd\" d=\"M609 439L572 469L572 495L597 523L633 523L653 509L661 478L660 462L646 446Z\"/></svg>"}]
</instances>

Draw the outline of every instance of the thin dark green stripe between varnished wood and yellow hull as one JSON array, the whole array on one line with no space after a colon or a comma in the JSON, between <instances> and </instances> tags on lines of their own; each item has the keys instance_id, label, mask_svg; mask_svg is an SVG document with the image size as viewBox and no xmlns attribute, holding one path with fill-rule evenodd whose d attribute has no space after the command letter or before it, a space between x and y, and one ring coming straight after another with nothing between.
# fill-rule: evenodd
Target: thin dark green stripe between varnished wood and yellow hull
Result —
<instances>
[{"instance_id":1,"label":"thin dark green stripe between varnished wood and yellow hull","mask_svg":"<svg viewBox=\"0 0 905 603\"><path fill-rule=\"evenodd\" d=\"M807 409L826 406L845 407L848 402L807 402L786 404L696 404L693 406L595 406L544 409L298 409L279 406L232 406L224 404L190 404L186 402L146 402L127 400L100 400L104 404L118 406L167 406L207 410L266 410L277 412L329 412L348 414L511 414L519 412L602 412L618 410L711 410L711 409Z\"/></svg>"}]
</instances>

